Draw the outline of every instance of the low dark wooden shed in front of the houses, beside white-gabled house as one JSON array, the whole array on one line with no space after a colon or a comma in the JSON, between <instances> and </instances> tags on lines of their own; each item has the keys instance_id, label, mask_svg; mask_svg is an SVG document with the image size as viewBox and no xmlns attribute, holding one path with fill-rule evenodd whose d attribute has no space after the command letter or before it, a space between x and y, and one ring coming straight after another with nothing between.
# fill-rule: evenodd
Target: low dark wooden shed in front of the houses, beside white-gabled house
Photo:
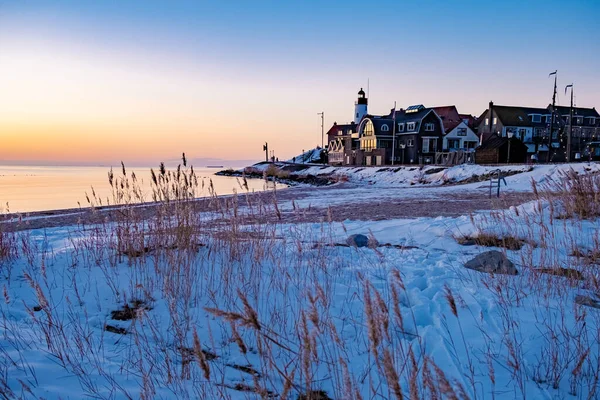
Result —
<instances>
[{"instance_id":1,"label":"low dark wooden shed in front of the houses, beside white-gabled house","mask_svg":"<svg viewBox=\"0 0 600 400\"><path fill-rule=\"evenodd\" d=\"M527 146L516 137L501 137L493 133L475 150L477 164L523 163Z\"/></svg>"}]
</instances>

